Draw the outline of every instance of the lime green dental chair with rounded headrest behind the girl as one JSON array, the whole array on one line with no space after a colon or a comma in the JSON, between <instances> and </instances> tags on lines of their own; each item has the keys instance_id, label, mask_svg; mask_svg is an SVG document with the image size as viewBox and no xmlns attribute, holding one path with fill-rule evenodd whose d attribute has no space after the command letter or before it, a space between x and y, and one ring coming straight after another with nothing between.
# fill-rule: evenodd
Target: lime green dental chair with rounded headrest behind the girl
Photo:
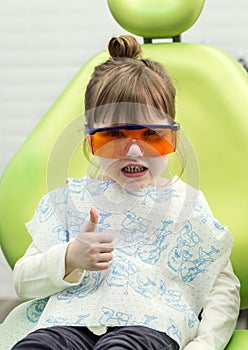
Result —
<instances>
[{"instance_id":1,"label":"lime green dental chair with rounded headrest behind the girl","mask_svg":"<svg viewBox=\"0 0 248 350\"><path fill-rule=\"evenodd\" d=\"M108 0L108 5L126 31L144 38L144 57L164 64L175 82L176 118L198 159L200 188L233 234L231 259L241 282L241 309L247 309L247 72L217 48L180 42L204 0ZM154 43L161 38L173 40ZM107 58L106 51L100 52L81 68L2 175L0 243L12 268L30 243L24 223L41 196L88 171L80 131L83 95L94 66ZM247 347L248 330L239 330L226 349Z\"/></svg>"}]
</instances>

